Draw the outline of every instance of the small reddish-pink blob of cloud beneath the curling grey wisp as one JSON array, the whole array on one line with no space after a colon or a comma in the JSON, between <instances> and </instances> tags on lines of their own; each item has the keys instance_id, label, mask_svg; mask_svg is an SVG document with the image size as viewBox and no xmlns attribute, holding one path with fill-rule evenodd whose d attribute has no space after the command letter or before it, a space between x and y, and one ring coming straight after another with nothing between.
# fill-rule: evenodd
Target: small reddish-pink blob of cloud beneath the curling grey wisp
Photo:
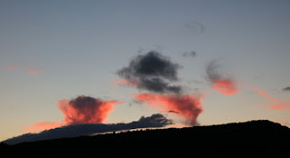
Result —
<instances>
[{"instance_id":1,"label":"small reddish-pink blob of cloud beneath the curling grey wisp","mask_svg":"<svg viewBox=\"0 0 290 158\"><path fill-rule=\"evenodd\" d=\"M231 80L218 80L211 88L225 95L235 95L238 91L237 84Z\"/></svg>"}]
</instances>

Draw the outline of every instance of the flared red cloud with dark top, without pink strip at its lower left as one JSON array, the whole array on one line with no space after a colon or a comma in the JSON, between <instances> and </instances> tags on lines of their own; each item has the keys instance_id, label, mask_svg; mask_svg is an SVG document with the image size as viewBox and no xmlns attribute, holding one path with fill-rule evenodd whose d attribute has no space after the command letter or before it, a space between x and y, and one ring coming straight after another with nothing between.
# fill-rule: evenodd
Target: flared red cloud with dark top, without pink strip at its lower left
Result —
<instances>
[{"instance_id":1,"label":"flared red cloud with dark top, without pink strip at its lower left","mask_svg":"<svg viewBox=\"0 0 290 158\"><path fill-rule=\"evenodd\" d=\"M66 99L58 101L57 106L63 112L64 122L76 123L103 123L118 101L102 101L90 96L78 96L68 102Z\"/></svg>"}]
</instances>

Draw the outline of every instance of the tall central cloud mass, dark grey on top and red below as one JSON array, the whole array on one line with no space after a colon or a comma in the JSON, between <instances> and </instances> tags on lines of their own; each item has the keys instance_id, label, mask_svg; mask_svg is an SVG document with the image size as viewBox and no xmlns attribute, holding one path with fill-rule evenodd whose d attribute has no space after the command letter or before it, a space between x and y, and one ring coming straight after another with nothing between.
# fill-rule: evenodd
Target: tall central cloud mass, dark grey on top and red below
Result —
<instances>
[{"instance_id":1,"label":"tall central cloud mass, dark grey on top and red below","mask_svg":"<svg viewBox=\"0 0 290 158\"><path fill-rule=\"evenodd\" d=\"M195 52L184 55L195 55ZM115 84L127 84L150 94L135 94L139 102L148 104L163 112L176 114L185 119L186 124L197 125L198 115L203 112L199 95L184 94L180 85L172 85L179 80L178 69L174 64L158 52L150 51L133 58L127 67L117 72L123 80Z\"/></svg>"}]
</instances>

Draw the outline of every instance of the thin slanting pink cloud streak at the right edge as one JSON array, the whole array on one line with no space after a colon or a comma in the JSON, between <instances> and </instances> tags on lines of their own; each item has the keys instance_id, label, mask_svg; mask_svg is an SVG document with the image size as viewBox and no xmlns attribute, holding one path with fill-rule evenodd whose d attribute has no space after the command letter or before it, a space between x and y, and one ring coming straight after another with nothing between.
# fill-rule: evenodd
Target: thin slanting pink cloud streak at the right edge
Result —
<instances>
[{"instance_id":1,"label":"thin slanting pink cloud streak at the right edge","mask_svg":"<svg viewBox=\"0 0 290 158\"><path fill-rule=\"evenodd\" d=\"M272 105L266 106L267 109L276 110L276 111L285 111L288 108L290 108L290 102L279 101L275 99L273 96L266 94L265 91L257 89L253 86L248 86L248 88L254 90L257 94L260 94L261 96L265 97L266 100L272 103Z\"/></svg>"}]
</instances>

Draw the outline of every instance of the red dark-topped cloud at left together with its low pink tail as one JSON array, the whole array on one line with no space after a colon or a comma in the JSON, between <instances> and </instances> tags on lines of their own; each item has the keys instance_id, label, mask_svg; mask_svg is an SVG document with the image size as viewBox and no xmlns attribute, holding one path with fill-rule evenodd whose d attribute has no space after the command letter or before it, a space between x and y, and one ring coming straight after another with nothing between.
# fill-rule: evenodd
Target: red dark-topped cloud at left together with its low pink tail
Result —
<instances>
[{"instance_id":1,"label":"red dark-topped cloud at left together with its low pink tail","mask_svg":"<svg viewBox=\"0 0 290 158\"><path fill-rule=\"evenodd\" d=\"M63 122L40 122L24 127L24 132L43 131L63 125L78 123L103 123L108 114L114 110L119 101L103 101L91 96L81 95L71 101L66 99L57 102L57 107L63 113Z\"/></svg>"}]
</instances>

